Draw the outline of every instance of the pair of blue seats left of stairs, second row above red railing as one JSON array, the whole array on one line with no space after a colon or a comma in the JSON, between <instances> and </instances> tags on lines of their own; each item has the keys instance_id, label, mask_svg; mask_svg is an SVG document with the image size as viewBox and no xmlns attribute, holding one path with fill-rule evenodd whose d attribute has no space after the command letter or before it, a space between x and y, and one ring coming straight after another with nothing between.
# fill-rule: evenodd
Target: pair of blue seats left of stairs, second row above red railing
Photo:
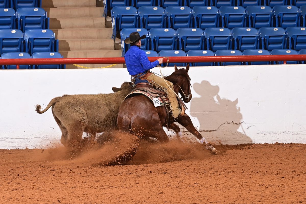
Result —
<instances>
[{"instance_id":1,"label":"pair of blue seats left of stairs, second row above red railing","mask_svg":"<svg viewBox=\"0 0 306 204\"><path fill-rule=\"evenodd\" d=\"M49 29L0 30L0 55L6 52L58 52L58 40Z\"/></svg>"}]
</instances>

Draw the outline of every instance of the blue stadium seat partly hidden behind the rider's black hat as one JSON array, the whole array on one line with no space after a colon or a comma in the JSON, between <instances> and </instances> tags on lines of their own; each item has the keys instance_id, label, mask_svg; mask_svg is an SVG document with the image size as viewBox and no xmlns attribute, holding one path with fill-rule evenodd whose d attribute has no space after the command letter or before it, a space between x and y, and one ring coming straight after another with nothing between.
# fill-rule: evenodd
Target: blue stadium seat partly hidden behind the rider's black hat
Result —
<instances>
[{"instance_id":1,"label":"blue stadium seat partly hidden behind the rider's black hat","mask_svg":"<svg viewBox=\"0 0 306 204\"><path fill-rule=\"evenodd\" d=\"M131 46L130 44L125 44L124 40L129 38L132 32L138 32L140 36L146 35L147 38L141 39L141 49L142 50L149 49L150 38L149 38L149 33L145 28L123 28L120 32L122 57Z\"/></svg>"}]
</instances>

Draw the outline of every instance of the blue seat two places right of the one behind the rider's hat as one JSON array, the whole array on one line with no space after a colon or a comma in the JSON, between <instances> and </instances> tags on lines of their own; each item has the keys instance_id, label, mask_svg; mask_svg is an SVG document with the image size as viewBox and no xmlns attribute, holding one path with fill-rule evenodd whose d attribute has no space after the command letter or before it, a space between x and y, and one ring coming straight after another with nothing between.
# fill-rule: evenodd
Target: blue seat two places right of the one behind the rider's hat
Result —
<instances>
[{"instance_id":1,"label":"blue seat two places right of the one behind the rider's hat","mask_svg":"<svg viewBox=\"0 0 306 204\"><path fill-rule=\"evenodd\" d=\"M204 44L204 33L200 28L179 28L177 38L180 50L201 50Z\"/></svg>"}]
</instances>

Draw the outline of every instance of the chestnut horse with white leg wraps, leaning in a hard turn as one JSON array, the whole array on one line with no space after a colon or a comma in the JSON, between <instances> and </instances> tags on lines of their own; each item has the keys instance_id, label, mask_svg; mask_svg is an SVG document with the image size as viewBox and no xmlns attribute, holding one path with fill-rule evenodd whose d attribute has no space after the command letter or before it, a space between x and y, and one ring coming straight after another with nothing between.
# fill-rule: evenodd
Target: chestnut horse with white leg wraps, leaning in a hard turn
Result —
<instances>
[{"instance_id":1,"label":"chestnut horse with white leg wraps, leaning in a hard turn","mask_svg":"<svg viewBox=\"0 0 306 204\"><path fill-rule=\"evenodd\" d=\"M165 79L173 83L175 93L180 93L183 101L188 103L192 98L190 77L188 76L189 65L187 65L186 69L177 69L175 66L174 70L170 76L165 76ZM165 107L155 107L152 101L146 96L135 95L131 98L126 98L122 102L117 123L121 131L141 135L143 139L147 140L152 137L158 139L160 142L167 142L169 138L163 129L163 126L166 127L166 118L167 113ZM169 121L169 128L173 129L177 137L179 137L181 130L174 122L172 117ZM216 149L196 130L190 117L186 113L184 116L179 117L176 122L195 135L207 149L216 152Z\"/></svg>"}]
</instances>

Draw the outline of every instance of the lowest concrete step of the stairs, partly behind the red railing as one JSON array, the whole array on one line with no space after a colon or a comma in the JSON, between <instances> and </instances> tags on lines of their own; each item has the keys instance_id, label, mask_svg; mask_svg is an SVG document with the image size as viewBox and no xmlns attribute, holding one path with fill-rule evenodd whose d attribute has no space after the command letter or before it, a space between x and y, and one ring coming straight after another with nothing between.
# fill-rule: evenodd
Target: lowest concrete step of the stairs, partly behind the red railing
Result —
<instances>
[{"instance_id":1,"label":"lowest concrete step of the stairs, partly behind the red railing","mask_svg":"<svg viewBox=\"0 0 306 204\"><path fill-rule=\"evenodd\" d=\"M121 50L83 50L83 51L61 51L65 58L84 58L84 57L121 57ZM91 68L105 67L112 64L89 64L81 65ZM112 68L123 67L123 64L112 66ZM76 68L74 65L67 65L67 69ZM80 67L78 67L80 68Z\"/></svg>"}]
</instances>

